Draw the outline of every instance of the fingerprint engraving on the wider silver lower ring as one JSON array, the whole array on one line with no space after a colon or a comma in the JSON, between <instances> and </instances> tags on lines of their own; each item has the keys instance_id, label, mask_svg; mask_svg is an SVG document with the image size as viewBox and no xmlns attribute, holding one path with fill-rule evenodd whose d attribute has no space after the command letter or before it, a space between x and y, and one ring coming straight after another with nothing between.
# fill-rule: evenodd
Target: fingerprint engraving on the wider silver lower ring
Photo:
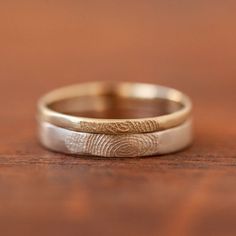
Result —
<instances>
[{"instance_id":1,"label":"fingerprint engraving on the wider silver lower ring","mask_svg":"<svg viewBox=\"0 0 236 236\"><path fill-rule=\"evenodd\" d=\"M105 157L138 157L158 152L158 133L106 135L73 132L65 138L70 153Z\"/></svg>"}]
</instances>

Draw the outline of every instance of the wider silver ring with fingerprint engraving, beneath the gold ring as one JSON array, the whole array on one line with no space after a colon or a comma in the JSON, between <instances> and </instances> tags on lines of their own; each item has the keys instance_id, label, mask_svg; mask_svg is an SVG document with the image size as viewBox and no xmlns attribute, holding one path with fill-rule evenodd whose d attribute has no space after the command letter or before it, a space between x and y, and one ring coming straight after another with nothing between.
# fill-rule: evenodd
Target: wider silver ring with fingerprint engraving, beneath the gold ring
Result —
<instances>
[{"instance_id":1,"label":"wider silver ring with fingerprint engraving, beneath the gold ring","mask_svg":"<svg viewBox=\"0 0 236 236\"><path fill-rule=\"evenodd\" d=\"M48 149L102 157L141 157L179 151L192 142L192 120L165 131L146 134L89 134L39 123L41 143Z\"/></svg>"}]
</instances>

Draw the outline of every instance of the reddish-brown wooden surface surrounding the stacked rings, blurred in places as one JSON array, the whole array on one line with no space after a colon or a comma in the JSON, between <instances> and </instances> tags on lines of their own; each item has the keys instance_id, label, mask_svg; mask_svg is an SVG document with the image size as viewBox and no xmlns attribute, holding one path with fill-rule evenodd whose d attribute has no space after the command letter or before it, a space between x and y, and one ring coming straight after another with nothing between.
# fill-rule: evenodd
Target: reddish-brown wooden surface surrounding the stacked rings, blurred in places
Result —
<instances>
[{"instance_id":1,"label":"reddish-brown wooden surface surrounding the stacked rings, blurred in places","mask_svg":"<svg viewBox=\"0 0 236 236\"><path fill-rule=\"evenodd\" d=\"M228 0L2 0L1 235L236 235L235 10ZM91 80L183 90L194 145L139 159L44 150L37 99Z\"/></svg>"}]
</instances>

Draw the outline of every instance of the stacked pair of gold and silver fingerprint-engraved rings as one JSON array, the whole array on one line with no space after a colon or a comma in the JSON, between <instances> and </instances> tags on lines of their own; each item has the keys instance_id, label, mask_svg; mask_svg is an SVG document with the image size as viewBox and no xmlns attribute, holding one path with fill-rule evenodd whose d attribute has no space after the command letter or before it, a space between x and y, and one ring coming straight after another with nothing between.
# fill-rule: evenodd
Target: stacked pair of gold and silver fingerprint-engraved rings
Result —
<instances>
[{"instance_id":1,"label":"stacked pair of gold and silver fingerprint-engraved rings","mask_svg":"<svg viewBox=\"0 0 236 236\"><path fill-rule=\"evenodd\" d=\"M192 104L153 84L90 82L54 90L38 103L39 138L68 154L142 157L192 142Z\"/></svg>"}]
</instances>

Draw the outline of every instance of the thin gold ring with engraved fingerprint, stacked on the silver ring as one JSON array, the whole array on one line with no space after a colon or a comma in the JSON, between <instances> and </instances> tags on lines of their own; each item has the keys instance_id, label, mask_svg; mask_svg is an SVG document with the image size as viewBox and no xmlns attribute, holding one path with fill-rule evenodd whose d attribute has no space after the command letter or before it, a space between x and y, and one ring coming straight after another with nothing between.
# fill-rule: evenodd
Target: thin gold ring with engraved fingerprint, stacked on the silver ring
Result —
<instances>
[{"instance_id":1,"label":"thin gold ring with engraved fingerprint, stacked on the silver ring","mask_svg":"<svg viewBox=\"0 0 236 236\"><path fill-rule=\"evenodd\" d=\"M58 112L51 104L82 96L113 94L122 98L155 100L164 99L181 105L170 114L135 119L98 119L73 116ZM39 120L73 131L95 134L141 134L166 130L185 122L192 110L190 99L183 93L153 84L91 82L54 90L38 103Z\"/></svg>"}]
</instances>

